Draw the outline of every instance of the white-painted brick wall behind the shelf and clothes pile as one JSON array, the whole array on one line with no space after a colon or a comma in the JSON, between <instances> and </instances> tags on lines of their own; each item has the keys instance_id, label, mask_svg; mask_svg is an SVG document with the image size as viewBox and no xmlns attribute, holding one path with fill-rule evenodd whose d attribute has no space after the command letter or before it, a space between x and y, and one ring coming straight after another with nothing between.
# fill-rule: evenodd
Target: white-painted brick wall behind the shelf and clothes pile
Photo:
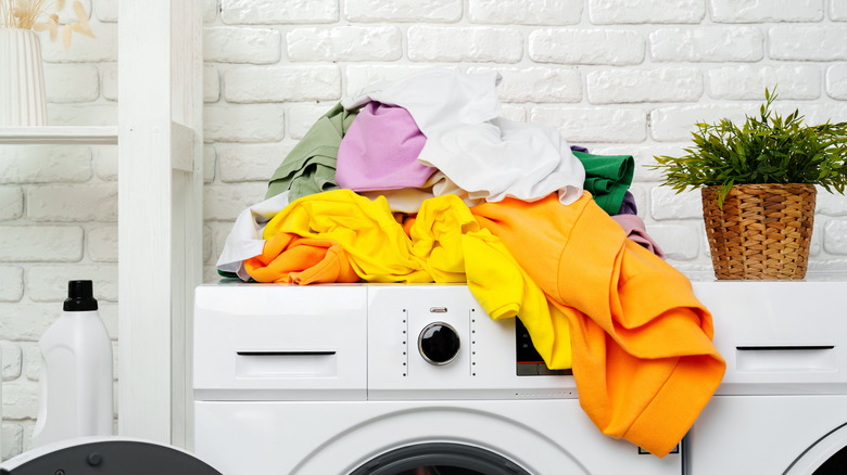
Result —
<instances>
[{"instance_id":1,"label":"white-painted brick wall behind the shelf and clothes pile","mask_svg":"<svg viewBox=\"0 0 847 475\"><path fill-rule=\"evenodd\" d=\"M504 114L639 167L640 216L669 261L710 269L698 192L642 165L695 121L780 108L847 120L846 0L203 0L205 278L238 213L314 120L372 81L431 66L496 69ZM86 0L97 40L45 40L52 124L115 124L118 0ZM114 147L0 147L3 455L28 447L36 343L64 282L96 282L117 335ZM847 198L818 197L811 270L847 270Z\"/></svg>"}]
</instances>

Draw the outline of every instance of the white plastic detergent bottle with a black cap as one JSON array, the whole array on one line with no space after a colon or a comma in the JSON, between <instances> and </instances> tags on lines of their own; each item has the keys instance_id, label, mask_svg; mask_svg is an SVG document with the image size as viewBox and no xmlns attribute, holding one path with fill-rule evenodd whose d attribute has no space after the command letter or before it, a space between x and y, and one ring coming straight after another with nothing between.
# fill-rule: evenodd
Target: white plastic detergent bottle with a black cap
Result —
<instances>
[{"instance_id":1,"label":"white plastic detergent bottle with a black cap","mask_svg":"<svg viewBox=\"0 0 847 475\"><path fill-rule=\"evenodd\" d=\"M33 446L113 433L112 342L91 281L69 281L64 312L41 336L41 405Z\"/></svg>"}]
</instances>

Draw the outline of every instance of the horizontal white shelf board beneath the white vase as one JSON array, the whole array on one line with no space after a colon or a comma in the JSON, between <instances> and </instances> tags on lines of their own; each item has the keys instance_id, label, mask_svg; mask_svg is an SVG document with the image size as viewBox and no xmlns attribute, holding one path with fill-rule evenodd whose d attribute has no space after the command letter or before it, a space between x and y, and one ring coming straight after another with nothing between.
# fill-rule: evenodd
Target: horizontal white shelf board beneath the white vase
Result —
<instances>
[{"instance_id":1,"label":"horizontal white shelf board beneath the white vase","mask_svg":"<svg viewBox=\"0 0 847 475\"><path fill-rule=\"evenodd\" d=\"M0 143L116 145L117 126L0 127Z\"/></svg>"}]
</instances>

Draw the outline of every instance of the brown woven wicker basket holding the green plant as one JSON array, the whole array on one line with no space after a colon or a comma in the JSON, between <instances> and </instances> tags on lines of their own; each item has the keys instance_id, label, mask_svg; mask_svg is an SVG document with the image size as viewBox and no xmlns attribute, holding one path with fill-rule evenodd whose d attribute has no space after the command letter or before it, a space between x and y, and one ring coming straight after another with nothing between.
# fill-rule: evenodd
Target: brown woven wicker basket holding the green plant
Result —
<instances>
[{"instance_id":1,"label":"brown woven wicker basket holding the green plant","mask_svg":"<svg viewBox=\"0 0 847 475\"><path fill-rule=\"evenodd\" d=\"M814 221L814 185L736 184L724 198L723 209L718 206L719 190L701 190L715 277L804 279Z\"/></svg>"}]
</instances>

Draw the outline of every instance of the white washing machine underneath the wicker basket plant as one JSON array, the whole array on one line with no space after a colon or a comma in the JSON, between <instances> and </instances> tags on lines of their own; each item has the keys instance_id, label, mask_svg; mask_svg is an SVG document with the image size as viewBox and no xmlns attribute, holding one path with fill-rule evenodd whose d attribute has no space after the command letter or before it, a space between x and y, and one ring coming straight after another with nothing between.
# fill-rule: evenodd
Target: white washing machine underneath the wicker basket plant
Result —
<instances>
[{"instance_id":1,"label":"white washing machine underneath the wicker basket plant","mask_svg":"<svg viewBox=\"0 0 847 475\"><path fill-rule=\"evenodd\" d=\"M847 274L692 279L726 373L686 436L686 473L847 474Z\"/></svg>"}]
</instances>

